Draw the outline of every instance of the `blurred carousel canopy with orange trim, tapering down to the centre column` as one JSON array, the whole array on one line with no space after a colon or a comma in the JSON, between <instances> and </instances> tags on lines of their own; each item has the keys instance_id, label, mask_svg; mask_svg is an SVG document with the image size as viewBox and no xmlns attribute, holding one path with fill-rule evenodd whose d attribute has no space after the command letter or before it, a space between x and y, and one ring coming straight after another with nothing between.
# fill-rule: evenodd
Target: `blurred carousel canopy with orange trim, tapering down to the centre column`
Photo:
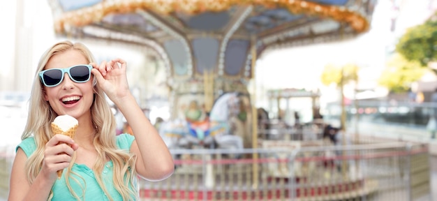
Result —
<instances>
[{"instance_id":1,"label":"blurred carousel canopy with orange trim, tapering down to the centre column","mask_svg":"<svg viewBox=\"0 0 437 201\"><path fill-rule=\"evenodd\" d=\"M57 34L147 45L173 77L251 77L253 52L343 40L376 0L49 0ZM252 48L255 47L255 48ZM253 50L253 51L251 51Z\"/></svg>"}]
</instances>

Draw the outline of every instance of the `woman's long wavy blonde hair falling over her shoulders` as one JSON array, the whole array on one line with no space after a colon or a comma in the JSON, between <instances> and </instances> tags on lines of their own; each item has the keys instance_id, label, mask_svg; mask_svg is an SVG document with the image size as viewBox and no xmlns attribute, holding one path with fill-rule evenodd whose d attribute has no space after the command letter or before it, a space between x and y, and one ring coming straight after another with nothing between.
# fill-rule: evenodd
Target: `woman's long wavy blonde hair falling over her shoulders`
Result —
<instances>
[{"instance_id":1,"label":"woman's long wavy blonde hair falling over her shoulders","mask_svg":"<svg viewBox=\"0 0 437 201\"><path fill-rule=\"evenodd\" d=\"M38 63L38 69L36 70L34 76L34 83L31 89L31 96L29 100L29 117L27 118L27 124L22 133L22 140L27 137L34 136L36 142L36 151L34 151L31 156L29 156L26 163L27 179L30 184L33 183L36 176L39 174L40 169L43 165L43 156L45 144L50 140L53 133L50 129L50 124L57 117L58 114L52 110L50 104L44 100L44 88L43 84L40 82L38 73L45 68L45 65L55 54L60 54L66 52L67 50L76 50L84 55L84 57L91 62L95 62L93 55L89 49L82 43L72 43L68 40L62 41L54 44L50 47L40 58ZM94 83L96 80L94 78ZM103 178L101 173L103 171L106 158L109 158L113 163L113 184L114 188L120 193L123 200L134 200L138 196L138 186L136 185L135 179L135 161L136 156L127 151L117 149L115 133L116 133L116 122L114 115L110 110L110 105L105 99L105 94L103 90L98 87L98 84L94 84L94 101L91 105L91 119L92 123L96 129L96 134L94 135L94 147L97 151L97 160L94 164L93 170L96 173L96 180L101 186L106 195L110 196L105 185L103 184ZM80 195L77 192L73 192L70 179L68 179L71 174L76 174L71 171L75 161L75 155L73 156L73 161L66 170L65 179L68 189L71 194L77 199L80 199ZM73 177L71 177L73 178ZM73 179L78 184L77 179ZM82 195L86 189L86 186L82 186ZM53 194L50 193L50 198ZM110 198L113 200L113 198Z\"/></svg>"}]
</instances>

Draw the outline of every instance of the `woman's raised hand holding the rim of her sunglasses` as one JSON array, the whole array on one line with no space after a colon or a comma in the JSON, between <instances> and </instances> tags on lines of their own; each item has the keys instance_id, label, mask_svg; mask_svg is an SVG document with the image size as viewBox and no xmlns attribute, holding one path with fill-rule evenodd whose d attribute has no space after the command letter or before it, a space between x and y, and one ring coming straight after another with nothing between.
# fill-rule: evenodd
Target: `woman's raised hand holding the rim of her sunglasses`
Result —
<instances>
[{"instance_id":1,"label":"woman's raised hand holding the rim of her sunglasses","mask_svg":"<svg viewBox=\"0 0 437 201\"><path fill-rule=\"evenodd\" d=\"M112 59L103 61L99 66L92 63L91 72L96 76L97 84L105 91L105 94L115 102L128 96L129 90L126 77L126 61L123 59Z\"/></svg>"}]
</instances>

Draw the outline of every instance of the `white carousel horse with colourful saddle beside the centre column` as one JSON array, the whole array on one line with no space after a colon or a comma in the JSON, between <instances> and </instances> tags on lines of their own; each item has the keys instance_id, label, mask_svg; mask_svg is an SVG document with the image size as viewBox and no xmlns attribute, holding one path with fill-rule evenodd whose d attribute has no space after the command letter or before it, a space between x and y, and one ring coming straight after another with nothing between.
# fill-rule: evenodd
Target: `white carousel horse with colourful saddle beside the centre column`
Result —
<instances>
[{"instance_id":1,"label":"white carousel horse with colourful saddle beside the centre column","mask_svg":"<svg viewBox=\"0 0 437 201\"><path fill-rule=\"evenodd\" d=\"M228 121L232 115L240 113L238 104L237 93L223 94L217 98L205 119L196 121L186 118L165 121L161 124L159 133L170 149L187 149L193 145L218 149L242 149L242 139L230 134ZM186 112L186 114L197 113Z\"/></svg>"}]
</instances>

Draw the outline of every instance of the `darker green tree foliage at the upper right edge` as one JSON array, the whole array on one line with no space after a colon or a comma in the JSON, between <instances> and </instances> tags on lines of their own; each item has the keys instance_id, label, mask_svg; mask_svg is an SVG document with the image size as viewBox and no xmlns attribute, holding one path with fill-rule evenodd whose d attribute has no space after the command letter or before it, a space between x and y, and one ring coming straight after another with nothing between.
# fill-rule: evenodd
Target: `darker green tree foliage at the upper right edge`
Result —
<instances>
[{"instance_id":1,"label":"darker green tree foliage at the upper right edge","mask_svg":"<svg viewBox=\"0 0 437 201\"><path fill-rule=\"evenodd\" d=\"M418 61L421 66L437 61L437 15L408 29L399 39L396 51L409 61Z\"/></svg>"}]
</instances>

